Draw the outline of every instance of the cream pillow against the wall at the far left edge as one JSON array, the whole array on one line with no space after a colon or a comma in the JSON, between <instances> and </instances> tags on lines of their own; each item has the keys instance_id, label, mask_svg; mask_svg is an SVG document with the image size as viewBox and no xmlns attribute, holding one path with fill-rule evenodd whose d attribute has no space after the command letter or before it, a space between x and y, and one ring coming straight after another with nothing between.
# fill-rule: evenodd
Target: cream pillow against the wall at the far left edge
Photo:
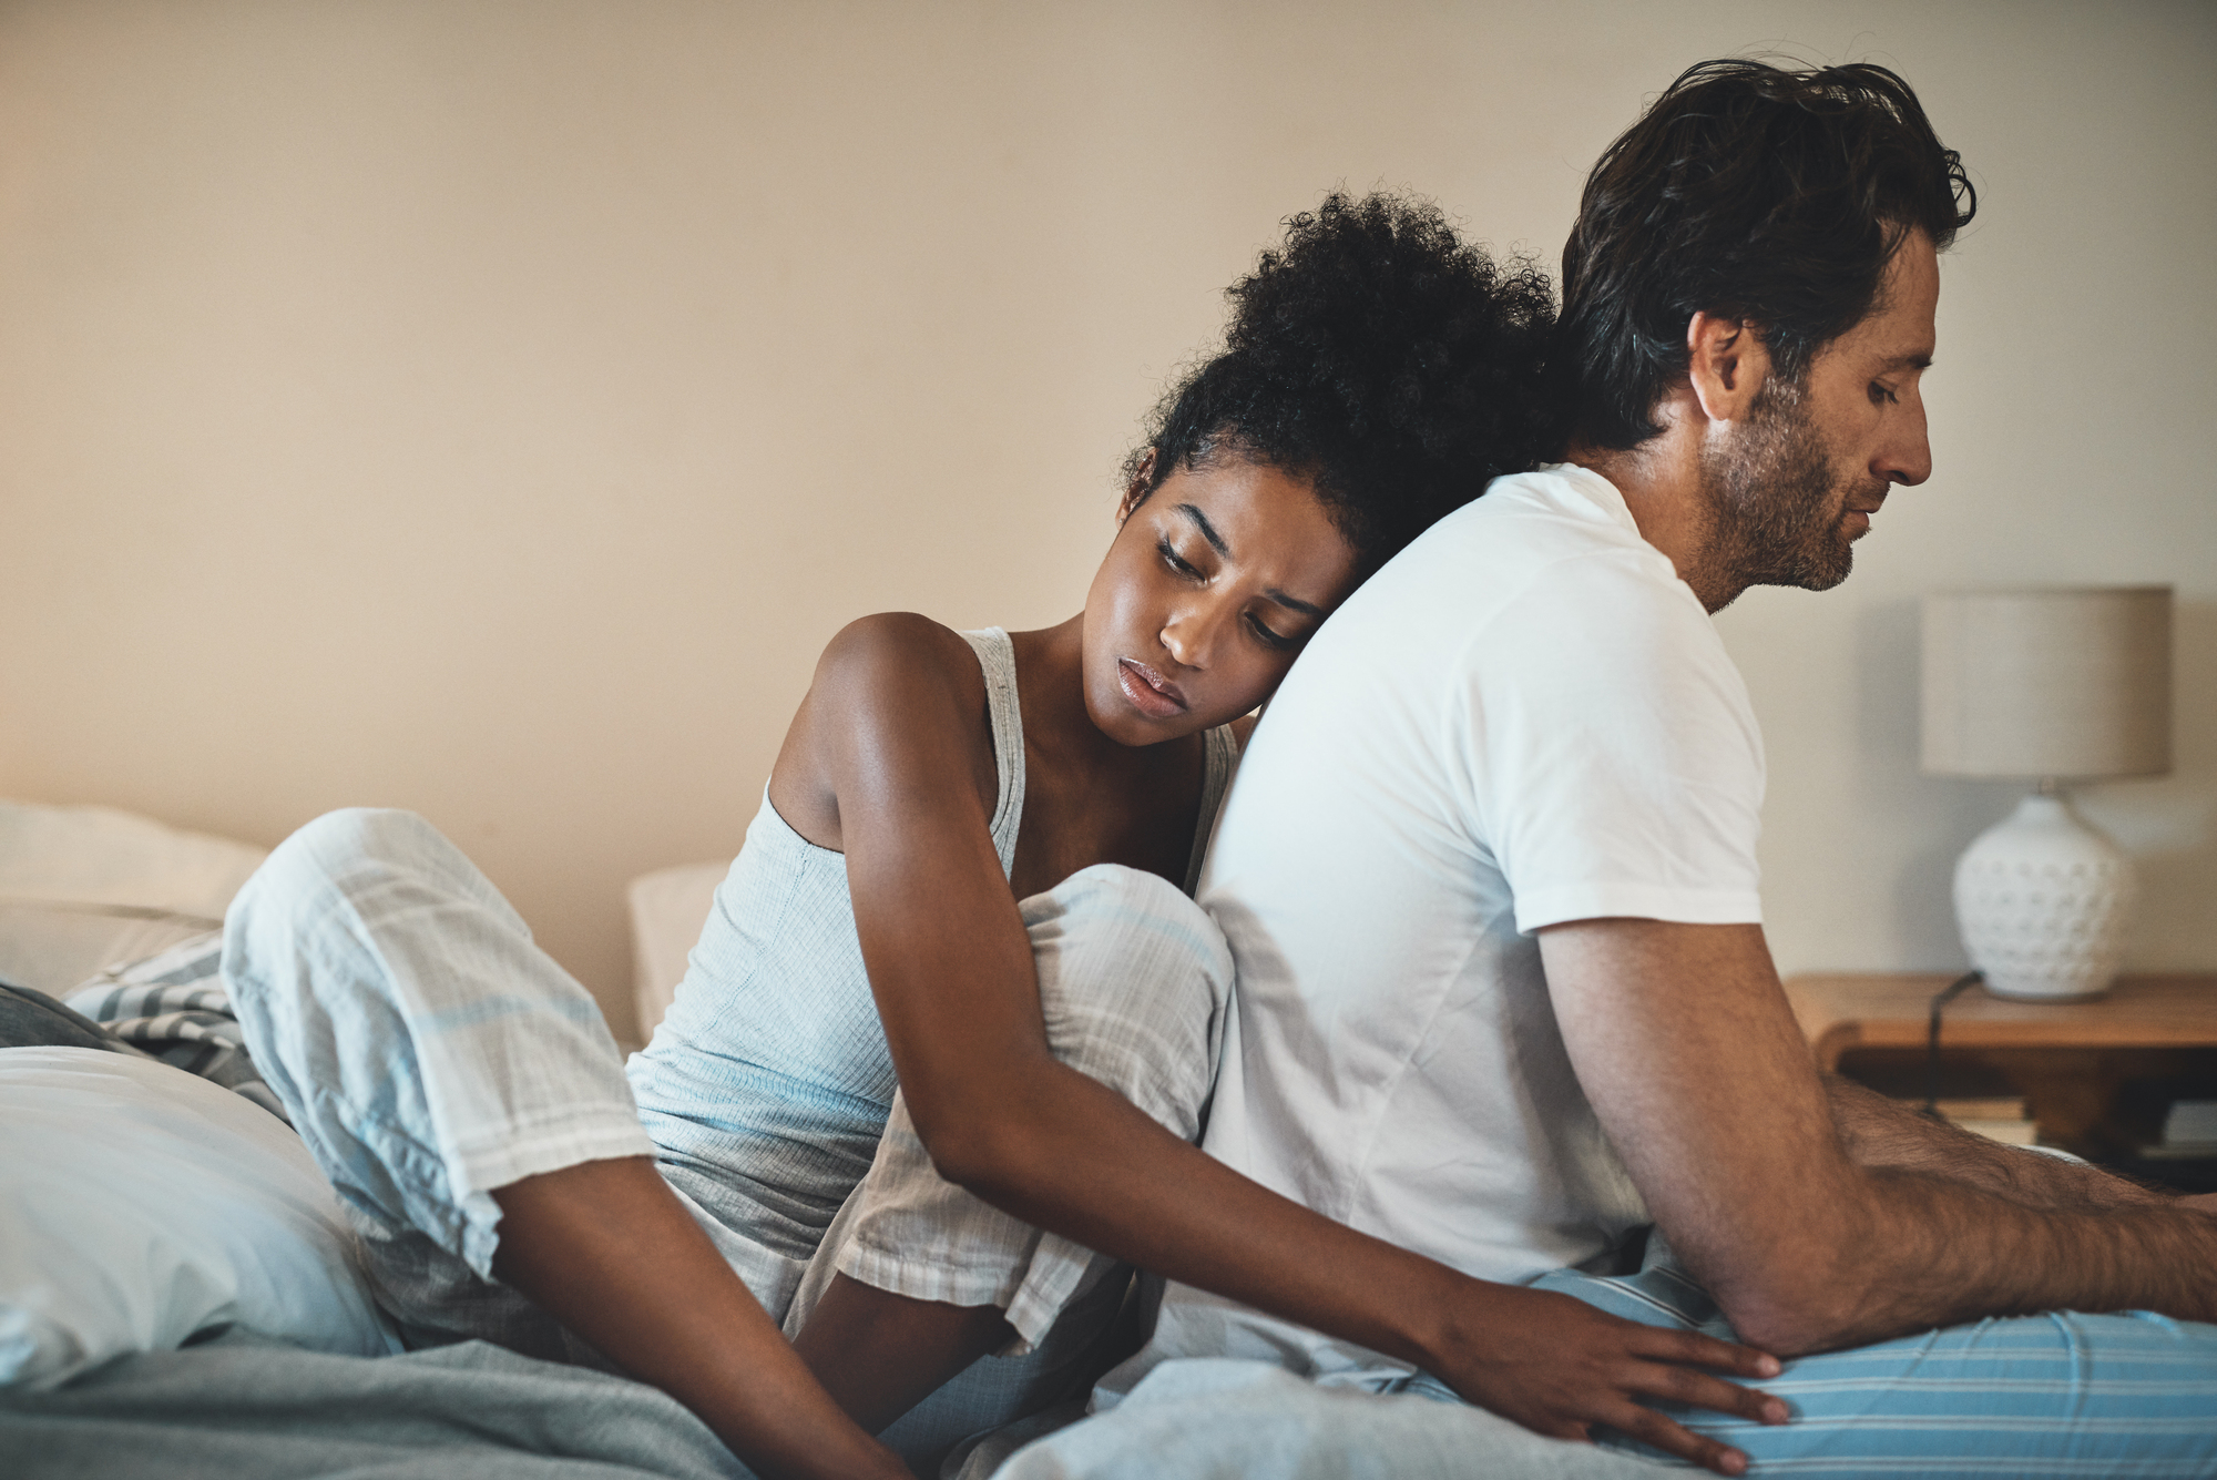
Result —
<instances>
[{"instance_id":1,"label":"cream pillow against the wall at the far left edge","mask_svg":"<svg viewBox=\"0 0 2217 1480\"><path fill-rule=\"evenodd\" d=\"M62 997L211 931L266 855L111 806L0 802L0 979Z\"/></svg>"}]
</instances>

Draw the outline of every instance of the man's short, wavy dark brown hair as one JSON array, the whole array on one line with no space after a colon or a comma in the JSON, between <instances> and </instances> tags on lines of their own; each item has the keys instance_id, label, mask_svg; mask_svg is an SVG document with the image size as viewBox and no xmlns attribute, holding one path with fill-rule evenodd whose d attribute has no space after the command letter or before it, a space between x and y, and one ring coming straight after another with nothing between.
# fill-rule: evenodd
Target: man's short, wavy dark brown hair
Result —
<instances>
[{"instance_id":1,"label":"man's short, wavy dark brown hair","mask_svg":"<svg viewBox=\"0 0 2217 1480\"><path fill-rule=\"evenodd\" d=\"M1878 308L1911 230L1947 248L1973 210L1962 157L1884 66L1689 66L1601 155L1563 246L1576 436L1632 448L1663 430L1652 412L1696 312L1751 323L1798 383Z\"/></svg>"}]
</instances>

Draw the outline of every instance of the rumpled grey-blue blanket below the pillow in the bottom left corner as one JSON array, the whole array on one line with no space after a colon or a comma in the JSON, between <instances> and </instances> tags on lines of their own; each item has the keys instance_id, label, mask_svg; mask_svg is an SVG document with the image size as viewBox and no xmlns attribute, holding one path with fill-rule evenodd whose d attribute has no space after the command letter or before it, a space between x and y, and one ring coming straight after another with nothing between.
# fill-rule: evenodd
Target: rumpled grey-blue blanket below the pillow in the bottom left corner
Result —
<instances>
[{"instance_id":1,"label":"rumpled grey-blue blanket below the pillow in the bottom left corner","mask_svg":"<svg viewBox=\"0 0 2217 1480\"><path fill-rule=\"evenodd\" d=\"M9 1480L752 1480L665 1394L472 1340L326 1356L248 1334L0 1391Z\"/></svg>"}]
</instances>

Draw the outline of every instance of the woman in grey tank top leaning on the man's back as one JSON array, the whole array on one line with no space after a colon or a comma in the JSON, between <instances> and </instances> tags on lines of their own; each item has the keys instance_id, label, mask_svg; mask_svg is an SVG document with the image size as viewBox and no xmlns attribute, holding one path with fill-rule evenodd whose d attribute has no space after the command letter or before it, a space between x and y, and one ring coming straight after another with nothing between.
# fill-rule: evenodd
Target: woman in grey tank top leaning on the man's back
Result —
<instances>
[{"instance_id":1,"label":"woman in grey tank top leaning on the man's back","mask_svg":"<svg viewBox=\"0 0 2217 1480\"><path fill-rule=\"evenodd\" d=\"M592 1001L419 820L326 818L248 884L226 926L248 1041L419 1338L581 1338L767 1473L900 1473L865 1429L978 1354L1020 1336L1062 1363L1046 1380L1082 1371L1100 1250L1541 1431L1610 1422L1729 1467L1634 1398L1769 1416L1665 1365L1767 1374L1754 1351L1468 1281L1188 1145L1228 957L1171 884L1228 727L1366 574L1554 434L1545 279L1428 206L1335 195L1233 299L1226 352L1128 465L1080 616L1013 638L878 616L831 643L630 1083ZM1155 973L1124 955L1148 931L1197 944ZM1120 1068L1095 1077L1104 1041ZM880 1134L878 1203L827 1241ZM803 1276L807 1367L776 1325Z\"/></svg>"}]
</instances>

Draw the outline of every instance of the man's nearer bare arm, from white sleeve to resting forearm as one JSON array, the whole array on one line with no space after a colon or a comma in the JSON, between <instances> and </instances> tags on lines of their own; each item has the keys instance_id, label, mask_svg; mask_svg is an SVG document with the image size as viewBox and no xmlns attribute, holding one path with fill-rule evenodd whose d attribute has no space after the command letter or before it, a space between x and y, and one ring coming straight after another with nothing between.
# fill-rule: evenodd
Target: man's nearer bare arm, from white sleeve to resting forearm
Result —
<instances>
[{"instance_id":1,"label":"man's nearer bare arm, from white sleeve to resting forearm","mask_svg":"<svg viewBox=\"0 0 2217 1480\"><path fill-rule=\"evenodd\" d=\"M1585 919L1543 931L1541 957L1587 1099L1743 1340L1796 1354L2053 1307L2217 1318L2217 1219L1858 1165L1760 926Z\"/></svg>"}]
</instances>

